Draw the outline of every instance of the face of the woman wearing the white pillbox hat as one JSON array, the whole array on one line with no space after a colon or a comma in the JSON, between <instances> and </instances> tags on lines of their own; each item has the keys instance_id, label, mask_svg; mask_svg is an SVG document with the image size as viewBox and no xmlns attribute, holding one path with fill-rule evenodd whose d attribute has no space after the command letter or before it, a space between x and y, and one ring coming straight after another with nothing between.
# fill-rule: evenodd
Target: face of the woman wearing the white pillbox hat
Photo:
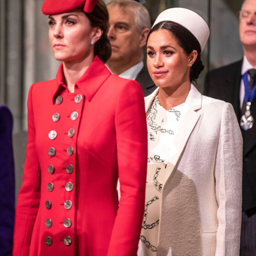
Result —
<instances>
[{"instance_id":1,"label":"face of the woman wearing the white pillbox hat","mask_svg":"<svg viewBox=\"0 0 256 256\"><path fill-rule=\"evenodd\" d=\"M155 85L177 87L189 81L191 55L184 54L170 31L154 31L147 41L147 68Z\"/></svg>"}]
</instances>

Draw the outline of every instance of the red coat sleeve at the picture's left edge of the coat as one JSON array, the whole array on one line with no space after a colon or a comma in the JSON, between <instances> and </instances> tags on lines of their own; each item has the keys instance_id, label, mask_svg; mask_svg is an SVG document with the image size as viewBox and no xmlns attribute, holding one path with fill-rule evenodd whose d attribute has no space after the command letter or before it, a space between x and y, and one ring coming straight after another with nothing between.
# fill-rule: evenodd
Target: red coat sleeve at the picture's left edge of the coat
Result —
<instances>
[{"instance_id":1,"label":"red coat sleeve at the picture's left edge of the coat","mask_svg":"<svg viewBox=\"0 0 256 256\"><path fill-rule=\"evenodd\" d=\"M38 213L40 200L41 173L35 148L35 125L33 118L32 94L28 94L28 140L27 154L23 169L22 187L15 212L14 256L27 256L30 250L31 235Z\"/></svg>"}]
</instances>

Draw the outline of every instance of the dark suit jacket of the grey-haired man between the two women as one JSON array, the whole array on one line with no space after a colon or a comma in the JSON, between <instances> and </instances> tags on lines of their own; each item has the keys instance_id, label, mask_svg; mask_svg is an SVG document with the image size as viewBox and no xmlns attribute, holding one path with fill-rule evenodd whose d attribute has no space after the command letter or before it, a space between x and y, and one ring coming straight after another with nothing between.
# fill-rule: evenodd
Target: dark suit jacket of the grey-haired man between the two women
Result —
<instances>
[{"instance_id":1,"label":"dark suit jacket of the grey-haired man between the two women","mask_svg":"<svg viewBox=\"0 0 256 256\"><path fill-rule=\"evenodd\" d=\"M155 86L154 82L152 81L149 72L147 71L147 67L145 66L142 68L141 72L139 72L135 80L138 81L139 85L141 85L144 97L153 93L153 91L155 91L157 88L157 86Z\"/></svg>"}]
</instances>

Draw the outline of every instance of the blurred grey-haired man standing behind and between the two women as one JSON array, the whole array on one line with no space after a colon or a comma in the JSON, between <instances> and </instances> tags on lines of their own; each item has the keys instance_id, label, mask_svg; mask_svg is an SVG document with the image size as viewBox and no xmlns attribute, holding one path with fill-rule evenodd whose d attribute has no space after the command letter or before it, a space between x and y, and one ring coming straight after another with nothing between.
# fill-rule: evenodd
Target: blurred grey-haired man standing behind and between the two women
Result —
<instances>
[{"instance_id":1,"label":"blurred grey-haired man standing behind and between the two women","mask_svg":"<svg viewBox=\"0 0 256 256\"><path fill-rule=\"evenodd\" d=\"M111 1L107 9L110 23L108 37L112 46L107 67L115 75L138 81L144 96L147 96L156 88L143 64L144 46L151 29L149 12L133 0Z\"/></svg>"}]
</instances>

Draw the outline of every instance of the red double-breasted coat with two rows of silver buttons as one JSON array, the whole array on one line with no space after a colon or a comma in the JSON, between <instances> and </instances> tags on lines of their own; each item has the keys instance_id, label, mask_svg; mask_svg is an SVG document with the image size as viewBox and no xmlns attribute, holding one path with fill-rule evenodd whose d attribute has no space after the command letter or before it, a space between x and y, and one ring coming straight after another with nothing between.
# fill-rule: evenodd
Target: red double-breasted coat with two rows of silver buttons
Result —
<instances>
[{"instance_id":1,"label":"red double-breasted coat with two rows of silver buttons","mask_svg":"<svg viewBox=\"0 0 256 256\"><path fill-rule=\"evenodd\" d=\"M63 83L62 65L55 80L33 84L14 256L136 255L146 129L139 84L112 75L98 57L76 81L75 93Z\"/></svg>"}]
</instances>

